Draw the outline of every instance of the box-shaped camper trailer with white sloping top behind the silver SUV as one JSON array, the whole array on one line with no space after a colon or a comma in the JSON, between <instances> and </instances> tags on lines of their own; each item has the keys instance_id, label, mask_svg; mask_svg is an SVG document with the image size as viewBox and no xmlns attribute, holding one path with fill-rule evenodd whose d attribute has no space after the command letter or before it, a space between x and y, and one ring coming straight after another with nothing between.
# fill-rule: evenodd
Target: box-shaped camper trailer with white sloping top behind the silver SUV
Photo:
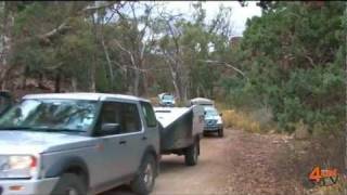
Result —
<instances>
[{"instance_id":1,"label":"box-shaped camper trailer with white sloping top behind the silver SUV","mask_svg":"<svg viewBox=\"0 0 347 195\"><path fill-rule=\"evenodd\" d=\"M204 108L154 107L160 130L160 153L184 155L185 165L194 166L200 155L204 130Z\"/></svg>"}]
</instances>

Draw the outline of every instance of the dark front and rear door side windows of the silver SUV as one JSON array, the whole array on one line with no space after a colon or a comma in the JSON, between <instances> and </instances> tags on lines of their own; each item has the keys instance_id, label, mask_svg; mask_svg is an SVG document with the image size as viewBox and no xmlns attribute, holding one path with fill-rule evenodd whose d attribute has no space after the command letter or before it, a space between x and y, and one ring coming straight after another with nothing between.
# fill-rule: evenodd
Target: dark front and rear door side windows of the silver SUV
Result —
<instances>
[{"instance_id":1,"label":"dark front and rear door side windows of the silver SUV","mask_svg":"<svg viewBox=\"0 0 347 195\"><path fill-rule=\"evenodd\" d=\"M141 131L141 119L137 104L103 102L97 125L97 135L102 135L98 133L98 130L104 123L119 123L119 134Z\"/></svg>"}]
</instances>

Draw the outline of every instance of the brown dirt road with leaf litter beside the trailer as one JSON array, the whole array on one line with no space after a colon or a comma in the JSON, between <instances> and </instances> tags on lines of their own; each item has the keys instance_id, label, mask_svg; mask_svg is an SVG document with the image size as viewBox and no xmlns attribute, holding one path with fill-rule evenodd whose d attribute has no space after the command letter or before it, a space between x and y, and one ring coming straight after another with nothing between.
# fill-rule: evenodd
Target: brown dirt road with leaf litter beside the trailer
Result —
<instances>
[{"instance_id":1,"label":"brown dirt road with leaf litter beside the trailer","mask_svg":"<svg viewBox=\"0 0 347 195\"><path fill-rule=\"evenodd\" d=\"M226 130L226 136L205 136L195 167L184 166L182 156L164 156L154 195L181 194L301 194L295 181L283 176L287 161L284 135L260 135ZM284 172L282 172L282 169ZM103 195L131 195L121 186Z\"/></svg>"}]
</instances>

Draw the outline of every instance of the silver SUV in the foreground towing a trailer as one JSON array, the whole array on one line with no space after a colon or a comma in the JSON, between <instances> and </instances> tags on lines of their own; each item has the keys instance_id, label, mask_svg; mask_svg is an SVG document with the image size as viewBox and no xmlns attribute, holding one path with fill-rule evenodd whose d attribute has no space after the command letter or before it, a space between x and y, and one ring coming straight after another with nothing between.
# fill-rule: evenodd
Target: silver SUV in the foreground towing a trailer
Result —
<instances>
[{"instance_id":1,"label":"silver SUV in the foreground towing a trailer","mask_svg":"<svg viewBox=\"0 0 347 195\"><path fill-rule=\"evenodd\" d=\"M26 95L0 118L0 195L149 194L159 132L149 101L117 94Z\"/></svg>"}]
</instances>

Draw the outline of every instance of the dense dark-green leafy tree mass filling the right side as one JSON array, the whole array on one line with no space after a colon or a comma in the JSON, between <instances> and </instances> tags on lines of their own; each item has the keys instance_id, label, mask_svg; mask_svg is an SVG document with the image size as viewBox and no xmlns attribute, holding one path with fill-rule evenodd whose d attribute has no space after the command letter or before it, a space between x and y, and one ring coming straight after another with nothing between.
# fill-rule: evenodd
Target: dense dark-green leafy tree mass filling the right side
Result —
<instances>
[{"instance_id":1,"label":"dense dark-green leafy tree mass filling the right side","mask_svg":"<svg viewBox=\"0 0 347 195\"><path fill-rule=\"evenodd\" d=\"M239 94L257 94L253 101L271 107L274 120L285 130L294 130L291 123L300 120L311 131L318 123L325 130L342 130L344 8L344 2L326 2L321 8L279 2L248 21L240 61L250 79Z\"/></svg>"}]
</instances>

